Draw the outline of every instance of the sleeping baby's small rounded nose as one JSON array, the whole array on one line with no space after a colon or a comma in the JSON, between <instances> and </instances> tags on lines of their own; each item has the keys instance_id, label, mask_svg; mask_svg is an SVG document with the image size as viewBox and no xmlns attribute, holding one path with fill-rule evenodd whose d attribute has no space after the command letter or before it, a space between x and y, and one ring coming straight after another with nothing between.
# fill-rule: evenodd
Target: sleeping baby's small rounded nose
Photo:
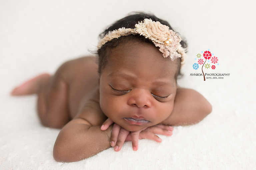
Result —
<instances>
[{"instance_id":1,"label":"sleeping baby's small rounded nose","mask_svg":"<svg viewBox=\"0 0 256 170\"><path fill-rule=\"evenodd\" d=\"M128 105L136 106L138 108L142 108L142 107L150 108L151 107L150 98L152 98L152 95L150 92L148 92L144 89L136 89L131 92L130 92L131 96L128 100Z\"/></svg>"}]
</instances>

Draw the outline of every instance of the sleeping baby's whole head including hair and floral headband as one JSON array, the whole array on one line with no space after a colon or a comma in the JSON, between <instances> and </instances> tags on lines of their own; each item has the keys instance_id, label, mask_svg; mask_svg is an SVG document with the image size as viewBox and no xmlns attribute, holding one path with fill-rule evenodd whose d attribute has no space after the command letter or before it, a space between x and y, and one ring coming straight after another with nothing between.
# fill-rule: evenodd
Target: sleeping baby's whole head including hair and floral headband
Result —
<instances>
[{"instance_id":1,"label":"sleeping baby's whole head including hair and floral headband","mask_svg":"<svg viewBox=\"0 0 256 170\"><path fill-rule=\"evenodd\" d=\"M166 26L171 29L166 21L137 13L114 23L99 43L101 109L129 131L159 124L173 110L186 43L169 29L158 38L147 36L150 25L153 34L157 33L154 24L160 31Z\"/></svg>"}]
</instances>

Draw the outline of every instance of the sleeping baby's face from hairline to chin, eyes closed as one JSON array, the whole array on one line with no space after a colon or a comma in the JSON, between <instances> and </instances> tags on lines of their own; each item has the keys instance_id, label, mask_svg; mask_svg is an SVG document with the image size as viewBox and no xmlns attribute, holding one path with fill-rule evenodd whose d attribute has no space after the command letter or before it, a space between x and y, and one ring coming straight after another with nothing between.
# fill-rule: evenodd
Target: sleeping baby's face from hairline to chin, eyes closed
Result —
<instances>
[{"instance_id":1,"label":"sleeping baby's face from hairline to chin, eyes closed","mask_svg":"<svg viewBox=\"0 0 256 170\"><path fill-rule=\"evenodd\" d=\"M177 60L164 58L153 44L119 44L100 75L103 113L129 131L164 121L173 110L177 67Z\"/></svg>"}]
</instances>

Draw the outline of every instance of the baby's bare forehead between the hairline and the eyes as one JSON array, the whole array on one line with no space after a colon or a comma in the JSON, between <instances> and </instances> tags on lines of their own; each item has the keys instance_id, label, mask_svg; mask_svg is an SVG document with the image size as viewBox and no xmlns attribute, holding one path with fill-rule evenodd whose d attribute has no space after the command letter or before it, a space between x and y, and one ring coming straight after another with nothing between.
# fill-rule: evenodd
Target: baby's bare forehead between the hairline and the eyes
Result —
<instances>
[{"instance_id":1,"label":"baby's bare forehead between the hairline and the eyes","mask_svg":"<svg viewBox=\"0 0 256 170\"><path fill-rule=\"evenodd\" d=\"M159 48L153 43L126 39L107 50L107 62L104 67L111 73L126 70L138 76L147 74L165 77L168 75L176 79L179 63L179 59L163 57Z\"/></svg>"}]
</instances>

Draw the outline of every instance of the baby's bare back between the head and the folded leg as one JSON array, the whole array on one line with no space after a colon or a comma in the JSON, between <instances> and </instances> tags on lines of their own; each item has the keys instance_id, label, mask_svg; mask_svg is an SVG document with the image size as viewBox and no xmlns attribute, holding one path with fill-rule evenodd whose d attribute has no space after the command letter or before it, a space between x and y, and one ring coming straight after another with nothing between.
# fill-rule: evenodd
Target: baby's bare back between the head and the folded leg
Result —
<instances>
[{"instance_id":1,"label":"baby's bare back between the head and the folded leg","mask_svg":"<svg viewBox=\"0 0 256 170\"><path fill-rule=\"evenodd\" d=\"M81 57L65 62L55 76L63 78L68 84L68 106L73 119L83 105L83 100L91 97L91 92L99 84L97 58Z\"/></svg>"}]
</instances>

